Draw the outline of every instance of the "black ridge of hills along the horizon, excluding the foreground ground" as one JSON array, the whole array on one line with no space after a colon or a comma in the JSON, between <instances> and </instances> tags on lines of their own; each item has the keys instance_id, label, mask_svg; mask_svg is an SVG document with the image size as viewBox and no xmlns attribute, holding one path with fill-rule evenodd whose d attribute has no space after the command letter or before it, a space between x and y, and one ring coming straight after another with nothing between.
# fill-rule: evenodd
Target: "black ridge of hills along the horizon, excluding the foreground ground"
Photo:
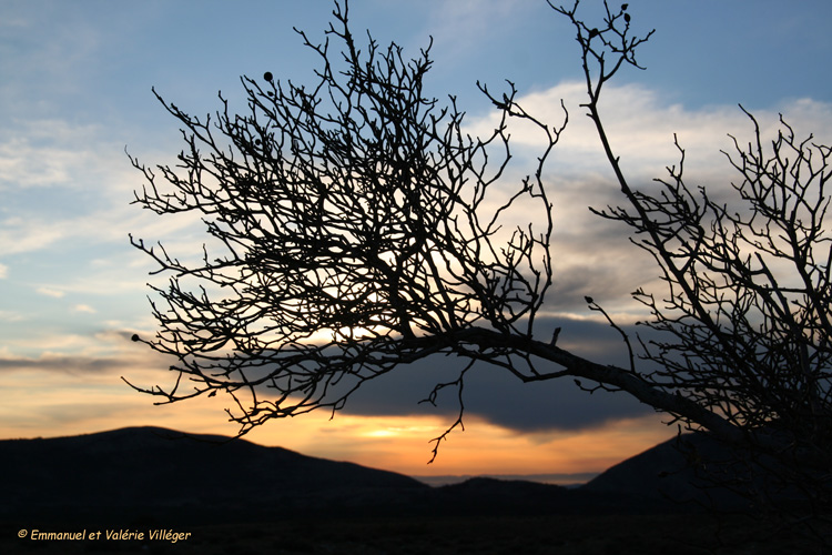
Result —
<instances>
[{"instance_id":1,"label":"black ridge of hills along the horizon, excluding the foreground ground","mask_svg":"<svg viewBox=\"0 0 832 555\"><path fill-rule=\"evenodd\" d=\"M485 477L429 487L402 474L244 440L129 427L0 441L0 519L204 523L303 515L667 511L674 505L651 488L656 476L679 464L682 455L661 444L578 488ZM681 481L683 488L686 480L677 472L663 484Z\"/></svg>"}]
</instances>

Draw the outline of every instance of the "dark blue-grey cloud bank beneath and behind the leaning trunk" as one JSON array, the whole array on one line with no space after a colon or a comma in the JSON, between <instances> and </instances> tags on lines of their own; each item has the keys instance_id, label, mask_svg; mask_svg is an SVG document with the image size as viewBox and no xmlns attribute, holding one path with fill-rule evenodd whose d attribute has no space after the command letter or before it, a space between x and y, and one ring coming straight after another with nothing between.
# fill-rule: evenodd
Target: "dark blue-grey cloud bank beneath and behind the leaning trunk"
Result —
<instances>
[{"instance_id":1,"label":"dark blue-grey cloud bank beneath and behind the leaning trunk","mask_svg":"<svg viewBox=\"0 0 832 555\"><path fill-rule=\"evenodd\" d=\"M620 336L606 324L547 319L540 320L538 325L541 336L551 334L555 326L561 326L558 344L576 354L600 363L626 364L626 347ZM439 393L437 406L419 401L430 394L435 384L456 380L465 365L466 361L458 357L434 356L400 366L365 383L349 398L344 412L373 416L455 415L458 411L455 386ZM478 416L521 433L591 428L609 421L653 412L623 392L589 394L569 377L522 383L506 370L486 363L475 365L466 374L464 402L467 416Z\"/></svg>"}]
</instances>

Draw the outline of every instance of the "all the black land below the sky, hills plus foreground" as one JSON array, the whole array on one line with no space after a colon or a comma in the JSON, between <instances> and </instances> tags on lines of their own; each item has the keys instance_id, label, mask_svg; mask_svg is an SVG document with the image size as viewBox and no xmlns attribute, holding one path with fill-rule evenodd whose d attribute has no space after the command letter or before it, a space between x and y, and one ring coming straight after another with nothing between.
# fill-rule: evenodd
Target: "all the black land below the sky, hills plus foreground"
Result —
<instances>
[{"instance_id":1,"label":"all the black land below the sky, hills plus foreground","mask_svg":"<svg viewBox=\"0 0 832 555\"><path fill-rule=\"evenodd\" d=\"M671 442L566 488L483 477L430 487L352 463L158 427L7 440L0 553L643 555L721 545L721 521L656 490L661 481L686 491L689 478ZM791 539L771 543L753 521L732 522L743 549L802 553ZM191 535L175 544L31 539L35 531L97 529Z\"/></svg>"}]
</instances>

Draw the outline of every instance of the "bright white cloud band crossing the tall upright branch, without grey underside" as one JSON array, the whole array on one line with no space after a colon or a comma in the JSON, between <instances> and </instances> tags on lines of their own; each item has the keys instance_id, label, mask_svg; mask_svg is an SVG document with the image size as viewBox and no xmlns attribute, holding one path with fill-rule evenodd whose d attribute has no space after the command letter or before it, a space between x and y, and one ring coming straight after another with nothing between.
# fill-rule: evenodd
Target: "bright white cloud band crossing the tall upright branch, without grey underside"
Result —
<instances>
[{"instance_id":1,"label":"bright white cloud band crossing the tall upright branch, without grey underside","mask_svg":"<svg viewBox=\"0 0 832 555\"><path fill-rule=\"evenodd\" d=\"M586 85L580 82L564 82L545 91L525 94L518 103L531 115L550 125L564 120L561 99L569 112L569 124L555 150L550 171L558 174L602 171L608 164L602 158L598 133L586 109ZM663 176L664 168L678 163L679 153L673 145L673 135L686 150L686 168L700 175L712 176L713 171L724 174L728 169L720 150L731 150L729 133L740 143L751 138L753 127L748 117L735 105L709 105L689 110L680 104L667 102L655 90L642 85L607 85L599 111L607 135L616 154L620 157L625 171L643 178ZM810 99L793 100L769 110L755 111L764 137L775 137L778 112L783 113L798 135L814 133L821 141L830 142L832 105ZM496 112L471 118L469 131L486 135L497 123ZM537 155L535 149L542 144L541 131L531 124L509 121L511 143L515 149L526 150L520 155ZM825 137L824 137L825 134ZM713 171L712 171L713 170Z\"/></svg>"}]
</instances>

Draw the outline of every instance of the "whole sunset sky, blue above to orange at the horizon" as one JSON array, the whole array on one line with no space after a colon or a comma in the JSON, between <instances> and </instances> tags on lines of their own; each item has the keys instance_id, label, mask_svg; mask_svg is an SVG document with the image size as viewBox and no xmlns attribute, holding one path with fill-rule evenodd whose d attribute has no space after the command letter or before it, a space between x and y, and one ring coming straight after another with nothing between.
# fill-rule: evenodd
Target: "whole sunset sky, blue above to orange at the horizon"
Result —
<instances>
[{"instance_id":1,"label":"whole sunset sky, blue above to orange at the horizon","mask_svg":"<svg viewBox=\"0 0 832 555\"><path fill-rule=\"evenodd\" d=\"M720 150L728 133L748 141L755 114L764 133L782 113L799 134L830 143L832 77L826 0L630 0L632 24L656 29L640 71L623 70L601 101L613 148L631 182L649 186L686 148L691 183L728 194L734 176ZM584 0L587 19L600 2ZM615 4L617 6L617 4ZM168 384L169 362L133 333L152 335L152 261L128 234L199 249L181 221L131 205L148 164L172 163L183 147L176 122L151 87L185 111L220 107L217 91L244 108L240 75L311 81L315 57L293 27L321 40L333 4L274 0L222 2L4 0L0 3L0 437L60 436L132 425L234 435L221 396L154 406L128 387ZM545 0L353 0L356 36L369 29L417 56L433 37L428 93L458 98L473 133L495 114L476 82L516 83L521 104L570 121L547 165L554 201L556 283L542 331L560 325L560 346L616 363L617 335L584 301L591 295L622 325L646 314L628 293L661 293L656 269L627 232L587 210L616 204L611 172L581 113L580 60L568 21ZM825 133L825 137L824 137ZM516 163L534 160L539 138L513 128ZM629 327L628 327L629 329ZM434 408L433 383L457 361L414 365L359 391L328 413L273 421L248 438L307 455L410 475L567 475L603 471L670 437L676 428L623 394L589 395L571 380L524 385L478 367L466 384L465 431L430 465L429 440L455 417L453 400ZM451 374L448 374L451 373Z\"/></svg>"}]
</instances>

